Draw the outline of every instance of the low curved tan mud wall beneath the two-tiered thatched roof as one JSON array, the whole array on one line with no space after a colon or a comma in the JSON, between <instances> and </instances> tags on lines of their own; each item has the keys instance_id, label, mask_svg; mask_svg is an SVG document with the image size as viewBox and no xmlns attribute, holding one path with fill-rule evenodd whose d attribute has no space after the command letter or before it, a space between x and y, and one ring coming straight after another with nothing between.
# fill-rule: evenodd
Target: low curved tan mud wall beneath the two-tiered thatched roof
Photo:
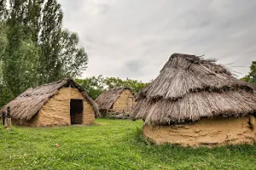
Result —
<instances>
[{"instance_id":1,"label":"low curved tan mud wall beneath the two-tiered thatched roof","mask_svg":"<svg viewBox=\"0 0 256 170\"><path fill-rule=\"evenodd\" d=\"M215 146L225 144L253 144L256 139L255 117L250 128L249 116L241 118L204 119L195 124L172 126L143 126L143 135L156 144L182 146Z\"/></svg>"}]
</instances>

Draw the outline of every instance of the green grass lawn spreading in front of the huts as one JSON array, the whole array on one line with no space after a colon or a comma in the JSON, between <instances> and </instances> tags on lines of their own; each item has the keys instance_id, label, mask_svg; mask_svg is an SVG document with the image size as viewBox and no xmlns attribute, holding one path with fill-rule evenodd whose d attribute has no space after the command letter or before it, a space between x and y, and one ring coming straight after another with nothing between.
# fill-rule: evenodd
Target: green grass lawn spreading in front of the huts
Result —
<instances>
[{"instance_id":1,"label":"green grass lawn spreading in front of the huts","mask_svg":"<svg viewBox=\"0 0 256 170\"><path fill-rule=\"evenodd\" d=\"M256 169L256 144L213 149L154 145L143 139L143 122L96 123L0 127L0 169Z\"/></svg>"}]
</instances>

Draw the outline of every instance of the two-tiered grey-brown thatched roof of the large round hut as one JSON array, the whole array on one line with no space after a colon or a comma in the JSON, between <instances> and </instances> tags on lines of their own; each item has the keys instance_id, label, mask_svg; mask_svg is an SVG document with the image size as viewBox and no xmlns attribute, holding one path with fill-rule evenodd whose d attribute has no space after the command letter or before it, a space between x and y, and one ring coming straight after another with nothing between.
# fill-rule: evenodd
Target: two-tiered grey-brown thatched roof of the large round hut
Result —
<instances>
[{"instance_id":1,"label":"two-tiered grey-brown thatched roof of the large round hut","mask_svg":"<svg viewBox=\"0 0 256 170\"><path fill-rule=\"evenodd\" d=\"M202 117L246 116L256 94L215 59L172 54L160 75L140 92L131 119L148 125L195 122Z\"/></svg>"}]
</instances>

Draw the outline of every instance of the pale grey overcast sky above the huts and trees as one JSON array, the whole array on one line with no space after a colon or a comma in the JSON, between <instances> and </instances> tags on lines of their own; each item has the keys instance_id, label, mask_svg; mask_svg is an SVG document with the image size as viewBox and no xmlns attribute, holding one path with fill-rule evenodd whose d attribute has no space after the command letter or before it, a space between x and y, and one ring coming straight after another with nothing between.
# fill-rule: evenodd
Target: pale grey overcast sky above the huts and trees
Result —
<instances>
[{"instance_id":1,"label":"pale grey overcast sky above the huts and trees","mask_svg":"<svg viewBox=\"0 0 256 170\"><path fill-rule=\"evenodd\" d=\"M149 82L171 54L218 59L238 77L256 60L256 1L59 0L89 57L82 77Z\"/></svg>"}]
</instances>

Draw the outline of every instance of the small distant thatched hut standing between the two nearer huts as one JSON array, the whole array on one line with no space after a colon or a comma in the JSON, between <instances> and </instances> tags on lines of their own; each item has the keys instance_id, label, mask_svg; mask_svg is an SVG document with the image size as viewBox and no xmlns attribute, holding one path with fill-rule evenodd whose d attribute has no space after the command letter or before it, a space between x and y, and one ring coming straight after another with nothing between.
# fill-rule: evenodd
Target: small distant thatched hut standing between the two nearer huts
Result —
<instances>
[{"instance_id":1,"label":"small distant thatched hut standing between the two nearer huts","mask_svg":"<svg viewBox=\"0 0 256 170\"><path fill-rule=\"evenodd\" d=\"M136 105L135 94L129 87L112 88L104 91L95 101L101 112L130 112Z\"/></svg>"}]
</instances>

